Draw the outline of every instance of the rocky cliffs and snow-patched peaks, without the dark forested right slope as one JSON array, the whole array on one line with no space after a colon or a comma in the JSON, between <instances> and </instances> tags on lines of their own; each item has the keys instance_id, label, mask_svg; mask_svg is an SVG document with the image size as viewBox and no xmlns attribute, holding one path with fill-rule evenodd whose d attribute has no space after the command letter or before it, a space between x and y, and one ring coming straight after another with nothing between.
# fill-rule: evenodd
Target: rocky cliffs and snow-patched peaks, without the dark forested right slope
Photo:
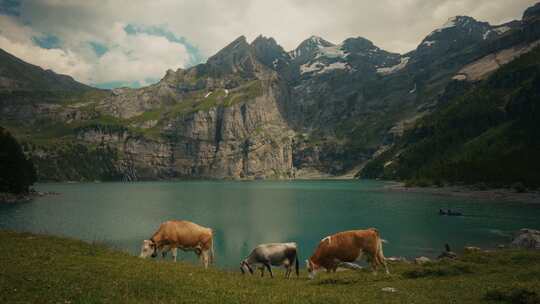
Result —
<instances>
[{"instance_id":1,"label":"rocky cliffs and snow-patched peaks, without the dark forested right slope","mask_svg":"<svg viewBox=\"0 0 540 304\"><path fill-rule=\"evenodd\" d=\"M537 15L497 26L454 17L407 54L362 37L312 36L286 52L241 36L140 89L95 90L3 52L0 124L26 140L41 180L341 175L387 151L456 80L530 51Z\"/></svg>"}]
</instances>

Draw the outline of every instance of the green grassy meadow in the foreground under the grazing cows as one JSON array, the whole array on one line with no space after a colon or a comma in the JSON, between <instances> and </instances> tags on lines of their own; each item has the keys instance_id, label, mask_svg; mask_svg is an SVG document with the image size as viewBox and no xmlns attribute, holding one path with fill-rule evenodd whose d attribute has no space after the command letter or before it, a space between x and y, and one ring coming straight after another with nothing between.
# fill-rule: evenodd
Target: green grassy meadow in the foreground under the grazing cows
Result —
<instances>
[{"instance_id":1,"label":"green grassy meadow in the foreground under the grazing cows","mask_svg":"<svg viewBox=\"0 0 540 304\"><path fill-rule=\"evenodd\" d=\"M0 256L2 303L537 303L540 294L540 252L533 251L391 264L391 275L323 273L312 281L303 269L291 280L282 272L242 276L27 233L0 231Z\"/></svg>"}]
</instances>

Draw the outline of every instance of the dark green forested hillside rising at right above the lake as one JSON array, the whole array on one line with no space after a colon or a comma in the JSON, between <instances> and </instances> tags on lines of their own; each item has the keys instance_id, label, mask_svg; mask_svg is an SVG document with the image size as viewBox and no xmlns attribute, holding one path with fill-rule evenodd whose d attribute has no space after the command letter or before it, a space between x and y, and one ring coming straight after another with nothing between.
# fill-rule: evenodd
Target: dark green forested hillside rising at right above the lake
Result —
<instances>
[{"instance_id":1,"label":"dark green forested hillside rising at right above the lake","mask_svg":"<svg viewBox=\"0 0 540 304\"><path fill-rule=\"evenodd\" d=\"M540 186L540 49L472 88L453 85L449 90L459 93L368 163L362 176Z\"/></svg>"}]
</instances>

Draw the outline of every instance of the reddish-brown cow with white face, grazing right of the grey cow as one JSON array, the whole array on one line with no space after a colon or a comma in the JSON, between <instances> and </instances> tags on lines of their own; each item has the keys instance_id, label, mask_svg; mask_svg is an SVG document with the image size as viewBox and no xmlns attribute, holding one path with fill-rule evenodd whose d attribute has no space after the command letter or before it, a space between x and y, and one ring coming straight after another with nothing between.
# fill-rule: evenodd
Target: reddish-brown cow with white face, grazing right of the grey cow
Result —
<instances>
[{"instance_id":1,"label":"reddish-brown cow with white face, grazing right of the grey cow","mask_svg":"<svg viewBox=\"0 0 540 304\"><path fill-rule=\"evenodd\" d=\"M389 274L382 242L379 231L375 228L350 230L327 236L319 242L315 253L306 260L309 278L313 279L321 267L328 272L335 272L339 264L360 260L362 254L366 255L374 273L378 266L383 265Z\"/></svg>"}]
</instances>

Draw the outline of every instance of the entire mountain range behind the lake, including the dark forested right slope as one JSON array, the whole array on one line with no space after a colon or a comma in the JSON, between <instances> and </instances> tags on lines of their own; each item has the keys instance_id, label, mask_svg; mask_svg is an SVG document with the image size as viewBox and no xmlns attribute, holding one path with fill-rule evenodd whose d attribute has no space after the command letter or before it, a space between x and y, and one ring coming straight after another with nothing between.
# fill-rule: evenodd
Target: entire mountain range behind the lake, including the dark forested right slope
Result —
<instances>
[{"instance_id":1,"label":"entire mountain range behind the lake, including the dark forested right slope","mask_svg":"<svg viewBox=\"0 0 540 304\"><path fill-rule=\"evenodd\" d=\"M538 161L528 161L539 151L529 119L539 44L536 4L502 25L450 18L406 54L362 37L312 36L286 51L242 36L156 84L113 90L0 50L0 125L42 181L348 174L540 184ZM502 160L519 163L504 178L510 169L492 169Z\"/></svg>"}]
</instances>

